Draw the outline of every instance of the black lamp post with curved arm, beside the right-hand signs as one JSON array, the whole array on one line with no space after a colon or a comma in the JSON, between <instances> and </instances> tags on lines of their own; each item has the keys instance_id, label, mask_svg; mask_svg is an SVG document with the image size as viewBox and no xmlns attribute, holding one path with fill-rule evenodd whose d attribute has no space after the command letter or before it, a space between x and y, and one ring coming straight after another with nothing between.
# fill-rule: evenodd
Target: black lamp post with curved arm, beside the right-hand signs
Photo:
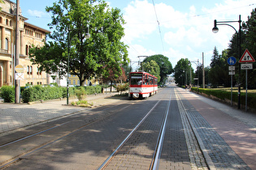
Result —
<instances>
[{"instance_id":1,"label":"black lamp post with curved arm, beside the right-hand signs","mask_svg":"<svg viewBox=\"0 0 256 170\"><path fill-rule=\"evenodd\" d=\"M239 23L239 30L238 32L236 31L236 28L234 28L232 25L228 24L228 23ZM239 15L239 20L238 21L217 21L215 19L215 26L214 28L212 28L212 32L214 33L217 33L219 32L219 28L217 28L217 25L227 25L231 28L233 28L235 31L236 31L236 36L237 36L237 45L238 45L238 53L239 53L239 57L241 57L241 15ZM240 105L241 105L241 84L240 84L240 75L241 75L241 66L239 65L238 67L238 102L237 102L237 105L238 105L238 109L240 109Z\"/></svg>"}]
</instances>

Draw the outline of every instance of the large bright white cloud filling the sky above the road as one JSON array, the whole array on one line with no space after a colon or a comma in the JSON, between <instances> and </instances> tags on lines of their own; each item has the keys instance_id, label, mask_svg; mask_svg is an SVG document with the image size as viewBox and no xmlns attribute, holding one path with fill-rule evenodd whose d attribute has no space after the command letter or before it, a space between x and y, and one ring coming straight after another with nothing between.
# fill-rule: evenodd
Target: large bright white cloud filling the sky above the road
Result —
<instances>
[{"instance_id":1,"label":"large bright white cloud filling the sky above the road","mask_svg":"<svg viewBox=\"0 0 256 170\"><path fill-rule=\"evenodd\" d=\"M163 46L159 45L158 23L153 4L149 0L134 0L124 8L124 19L127 22L124 26L125 39L130 44L129 57L135 61L139 55L162 53L169 57L174 67L180 58L187 57L193 61L199 58L202 62L204 52L205 66L209 66L215 46L219 53L228 49L229 40L235 33L227 26L218 26L217 34L211 32L214 19L238 20L238 15L241 15L241 19L246 21L254 9L250 4L253 4L251 0L225 0L208 8L193 5L188 11L181 12L174 6L167 5L167 2L155 3L166 50L163 51ZM238 30L238 23L233 25Z\"/></svg>"}]
</instances>

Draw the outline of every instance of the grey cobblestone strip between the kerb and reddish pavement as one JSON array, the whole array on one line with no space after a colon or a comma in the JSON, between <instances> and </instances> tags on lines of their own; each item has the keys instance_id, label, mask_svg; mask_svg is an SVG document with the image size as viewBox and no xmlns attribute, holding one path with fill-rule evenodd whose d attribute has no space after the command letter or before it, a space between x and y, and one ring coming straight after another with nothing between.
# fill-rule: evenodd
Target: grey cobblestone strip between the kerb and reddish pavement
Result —
<instances>
[{"instance_id":1,"label":"grey cobblestone strip between the kerb and reddish pavement","mask_svg":"<svg viewBox=\"0 0 256 170\"><path fill-rule=\"evenodd\" d=\"M208 155L217 169L250 169L247 164L228 146L228 143L219 136L211 125L197 112L188 100L182 103L186 108L189 120L192 121L198 135L206 147Z\"/></svg>"}]
</instances>

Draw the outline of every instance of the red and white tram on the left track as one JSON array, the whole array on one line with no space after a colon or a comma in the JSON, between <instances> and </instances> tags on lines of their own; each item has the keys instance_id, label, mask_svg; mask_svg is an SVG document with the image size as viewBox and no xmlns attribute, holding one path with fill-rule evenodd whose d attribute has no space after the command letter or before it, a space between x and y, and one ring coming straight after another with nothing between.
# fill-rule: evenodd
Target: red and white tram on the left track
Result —
<instances>
[{"instance_id":1,"label":"red and white tram on the left track","mask_svg":"<svg viewBox=\"0 0 256 170\"><path fill-rule=\"evenodd\" d=\"M129 74L129 94L132 99L153 96L158 91L158 79L146 72Z\"/></svg>"}]
</instances>

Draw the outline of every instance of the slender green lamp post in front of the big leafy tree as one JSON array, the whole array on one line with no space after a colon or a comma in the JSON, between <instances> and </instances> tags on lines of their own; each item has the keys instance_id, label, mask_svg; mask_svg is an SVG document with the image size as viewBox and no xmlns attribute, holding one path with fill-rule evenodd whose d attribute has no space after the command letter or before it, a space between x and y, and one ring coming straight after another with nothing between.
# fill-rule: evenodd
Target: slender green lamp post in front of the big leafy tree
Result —
<instances>
[{"instance_id":1,"label":"slender green lamp post in front of the big leafy tree","mask_svg":"<svg viewBox=\"0 0 256 170\"><path fill-rule=\"evenodd\" d=\"M85 28L85 29L70 29L70 26L68 26L68 30L67 30L67 105L68 105L68 97L69 97L68 74L69 74L69 59L70 59L70 40L71 40L70 32L82 32L82 31L85 31L85 30L87 30L87 32L85 33L85 39L88 39L90 37L89 25L87 25L87 28Z\"/></svg>"}]
</instances>

